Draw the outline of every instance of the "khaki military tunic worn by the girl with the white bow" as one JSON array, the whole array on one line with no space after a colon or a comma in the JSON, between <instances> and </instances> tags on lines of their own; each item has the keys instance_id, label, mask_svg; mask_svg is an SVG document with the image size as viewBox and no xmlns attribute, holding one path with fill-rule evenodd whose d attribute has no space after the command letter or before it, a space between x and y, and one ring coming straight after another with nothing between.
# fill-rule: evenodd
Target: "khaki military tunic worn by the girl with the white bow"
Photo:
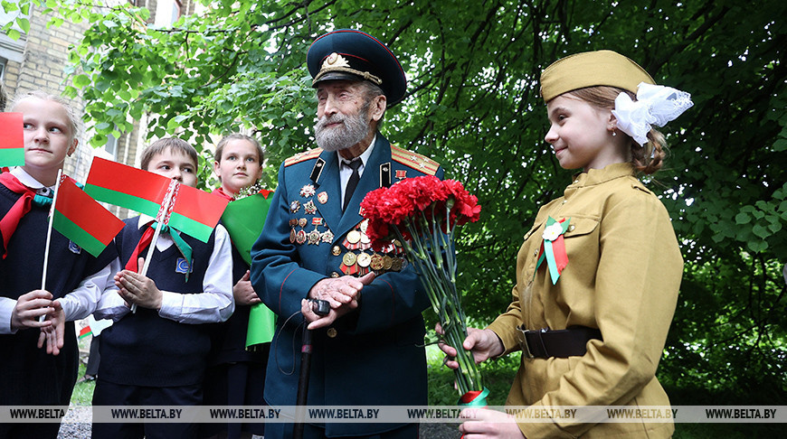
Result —
<instances>
[{"instance_id":1,"label":"khaki military tunic worn by the girl with the white bow","mask_svg":"<svg viewBox=\"0 0 787 439\"><path fill-rule=\"evenodd\" d=\"M536 270L547 217L570 219L568 265L556 284ZM506 352L519 350L517 326L598 328L582 357L526 359L509 406L668 406L655 378L678 301L683 258L659 199L629 163L579 174L564 196L539 210L517 256L517 285L507 312L489 329ZM535 275L534 275L535 273ZM671 423L598 423L553 419L519 425L528 438L668 437Z\"/></svg>"}]
</instances>

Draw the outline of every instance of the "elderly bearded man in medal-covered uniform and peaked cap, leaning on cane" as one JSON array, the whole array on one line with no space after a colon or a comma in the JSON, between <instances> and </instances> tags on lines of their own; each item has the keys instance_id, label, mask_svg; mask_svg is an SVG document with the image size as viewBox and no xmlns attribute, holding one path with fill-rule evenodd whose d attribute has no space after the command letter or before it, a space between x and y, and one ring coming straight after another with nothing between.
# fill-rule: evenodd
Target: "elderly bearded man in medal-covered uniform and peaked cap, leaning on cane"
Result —
<instances>
[{"instance_id":1,"label":"elderly bearded man in medal-covered uniform and peaked cap, leaning on cane","mask_svg":"<svg viewBox=\"0 0 787 439\"><path fill-rule=\"evenodd\" d=\"M261 236L251 250L251 283L279 316L265 400L294 406L299 323L314 330L308 406L423 406L427 403L424 323L429 300L395 251L375 253L360 214L365 194L409 177L442 177L439 163L388 143L377 130L404 97L394 54L355 30L312 43L308 71L317 91L318 148L287 159ZM319 316L308 299L326 300ZM289 321L288 321L289 319ZM269 424L266 439L292 424ZM305 425L304 437L416 438L416 424Z\"/></svg>"}]
</instances>

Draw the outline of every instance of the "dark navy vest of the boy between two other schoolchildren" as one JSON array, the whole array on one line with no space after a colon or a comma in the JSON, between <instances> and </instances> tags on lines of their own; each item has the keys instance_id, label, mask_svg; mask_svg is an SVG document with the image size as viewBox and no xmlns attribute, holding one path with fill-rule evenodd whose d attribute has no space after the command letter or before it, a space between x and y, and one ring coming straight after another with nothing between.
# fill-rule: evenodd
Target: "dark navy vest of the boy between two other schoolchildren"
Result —
<instances>
[{"instance_id":1,"label":"dark navy vest of the boy between two other schoolchildren","mask_svg":"<svg viewBox=\"0 0 787 439\"><path fill-rule=\"evenodd\" d=\"M126 227L115 241L124 265L145 230L137 228L138 217L125 220ZM147 277L162 291L180 294L203 292L208 260L213 253L215 232L207 243L181 234L192 247L194 262L188 282L176 272L178 258L173 245L163 253L153 252ZM147 249L142 252L147 256ZM182 264L181 264L182 266ZM205 361L211 348L209 326L179 323L159 317L156 310L137 307L101 332L99 376L117 384L149 387L190 386L203 379Z\"/></svg>"}]
</instances>

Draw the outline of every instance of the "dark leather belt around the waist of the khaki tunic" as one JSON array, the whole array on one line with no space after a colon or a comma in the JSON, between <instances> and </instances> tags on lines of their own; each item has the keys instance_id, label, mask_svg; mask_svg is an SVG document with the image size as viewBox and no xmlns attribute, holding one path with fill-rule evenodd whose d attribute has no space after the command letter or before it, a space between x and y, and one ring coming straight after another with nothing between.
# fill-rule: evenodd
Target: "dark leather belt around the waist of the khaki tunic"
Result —
<instances>
[{"instance_id":1,"label":"dark leather belt around the waist of the khaki tunic","mask_svg":"<svg viewBox=\"0 0 787 439\"><path fill-rule=\"evenodd\" d=\"M586 326L557 331L548 328L527 331L520 326L517 330L522 334L519 344L522 355L527 359L581 357L587 352L588 341L603 340L601 331Z\"/></svg>"}]
</instances>

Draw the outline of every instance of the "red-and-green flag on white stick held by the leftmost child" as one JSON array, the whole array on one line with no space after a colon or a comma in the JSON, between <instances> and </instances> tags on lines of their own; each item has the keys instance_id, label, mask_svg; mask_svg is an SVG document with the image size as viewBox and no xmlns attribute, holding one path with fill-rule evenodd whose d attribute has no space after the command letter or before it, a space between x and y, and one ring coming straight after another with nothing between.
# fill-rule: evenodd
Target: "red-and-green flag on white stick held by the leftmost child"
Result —
<instances>
[{"instance_id":1,"label":"red-and-green flag on white stick held by the leftmost child","mask_svg":"<svg viewBox=\"0 0 787 439\"><path fill-rule=\"evenodd\" d=\"M124 223L66 177L57 190L52 228L98 257Z\"/></svg>"}]
</instances>

